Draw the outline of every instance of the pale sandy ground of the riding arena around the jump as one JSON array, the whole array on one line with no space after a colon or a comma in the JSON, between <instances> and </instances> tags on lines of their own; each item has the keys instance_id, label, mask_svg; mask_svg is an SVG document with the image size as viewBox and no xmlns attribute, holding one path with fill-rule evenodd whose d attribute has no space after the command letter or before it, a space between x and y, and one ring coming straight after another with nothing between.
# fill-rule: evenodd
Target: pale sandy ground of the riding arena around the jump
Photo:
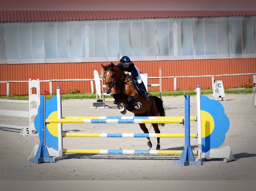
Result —
<instances>
[{"instance_id":1,"label":"pale sandy ground of the riding arena around the jump","mask_svg":"<svg viewBox=\"0 0 256 191\"><path fill-rule=\"evenodd\" d=\"M211 95L207 95L212 98ZM256 180L256 108L249 107L251 94L226 94L221 101L229 117L230 127L221 147L229 145L235 157L208 159L203 165L173 165L180 155L108 155L70 154L69 159L55 163L35 164L28 161L38 136L20 136L20 130L0 128L0 180ZM109 108L91 108L93 99L62 100L62 116L121 116L111 98ZM166 116L184 115L183 96L164 96ZM196 96L190 96L190 115L196 115ZM28 110L24 103L0 103L1 109ZM133 116L127 112L126 116ZM28 118L0 115L0 123L28 125ZM190 121L190 132L197 132L197 123ZM147 124L150 128L150 125ZM181 124L165 124L161 133L184 132ZM63 124L66 132L142 133L138 124ZM150 133L154 133L150 128ZM156 138L151 138L152 149ZM161 149L183 149L183 138L161 138ZM197 149L197 139L191 138ZM63 138L63 148L146 149L146 138ZM195 155L197 157L197 155Z\"/></svg>"}]
</instances>

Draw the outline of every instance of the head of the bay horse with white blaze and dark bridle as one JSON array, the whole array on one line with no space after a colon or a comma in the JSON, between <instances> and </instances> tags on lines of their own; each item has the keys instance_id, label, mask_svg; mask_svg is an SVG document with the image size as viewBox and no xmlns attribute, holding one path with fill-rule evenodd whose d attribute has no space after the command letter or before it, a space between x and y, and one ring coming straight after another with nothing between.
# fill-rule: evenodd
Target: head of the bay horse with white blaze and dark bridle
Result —
<instances>
[{"instance_id":1,"label":"head of the bay horse with white blaze and dark bridle","mask_svg":"<svg viewBox=\"0 0 256 191\"><path fill-rule=\"evenodd\" d=\"M101 64L101 66L104 69L103 77L104 77L105 84L106 84L105 91L107 94L110 94L111 88L114 87L116 80L118 80L118 79L116 79L116 76L115 76L115 70L114 70L115 65L113 63L111 63L107 66L103 66Z\"/></svg>"}]
</instances>

